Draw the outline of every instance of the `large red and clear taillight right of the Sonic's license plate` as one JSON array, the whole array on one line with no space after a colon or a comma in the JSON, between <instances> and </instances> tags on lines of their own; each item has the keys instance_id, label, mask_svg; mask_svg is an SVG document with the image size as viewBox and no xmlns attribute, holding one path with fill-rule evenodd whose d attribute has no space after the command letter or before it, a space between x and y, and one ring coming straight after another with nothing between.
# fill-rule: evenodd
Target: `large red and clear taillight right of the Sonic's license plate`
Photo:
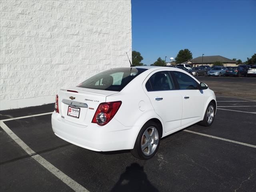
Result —
<instances>
[{"instance_id":1,"label":"large red and clear taillight right of the Sonic's license plate","mask_svg":"<svg viewBox=\"0 0 256 192\"><path fill-rule=\"evenodd\" d=\"M101 103L94 114L92 123L106 125L114 117L121 104L122 101Z\"/></svg>"}]
</instances>

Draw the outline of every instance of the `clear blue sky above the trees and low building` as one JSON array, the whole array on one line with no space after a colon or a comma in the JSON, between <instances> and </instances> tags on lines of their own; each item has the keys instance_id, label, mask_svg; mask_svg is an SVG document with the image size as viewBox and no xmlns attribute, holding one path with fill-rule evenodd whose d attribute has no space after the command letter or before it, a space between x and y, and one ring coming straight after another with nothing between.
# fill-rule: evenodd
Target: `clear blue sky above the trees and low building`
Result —
<instances>
[{"instance_id":1,"label":"clear blue sky above the trees and low building","mask_svg":"<svg viewBox=\"0 0 256 192\"><path fill-rule=\"evenodd\" d=\"M256 53L256 0L132 0L132 50L144 64L188 48L193 58L241 59Z\"/></svg>"}]
</instances>

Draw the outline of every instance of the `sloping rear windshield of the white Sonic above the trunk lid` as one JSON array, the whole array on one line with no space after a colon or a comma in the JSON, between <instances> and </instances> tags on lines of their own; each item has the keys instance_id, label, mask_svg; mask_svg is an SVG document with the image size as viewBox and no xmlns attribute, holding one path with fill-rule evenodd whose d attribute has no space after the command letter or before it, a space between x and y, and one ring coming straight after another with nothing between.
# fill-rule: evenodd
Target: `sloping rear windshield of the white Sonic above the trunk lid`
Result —
<instances>
[{"instance_id":1,"label":"sloping rear windshield of the white Sonic above the trunk lid","mask_svg":"<svg viewBox=\"0 0 256 192\"><path fill-rule=\"evenodd\" d=\"M121 91L130 81L146 70L142 68L114 68L90 77L77 87Z\"/></svg>"}]
</instances>

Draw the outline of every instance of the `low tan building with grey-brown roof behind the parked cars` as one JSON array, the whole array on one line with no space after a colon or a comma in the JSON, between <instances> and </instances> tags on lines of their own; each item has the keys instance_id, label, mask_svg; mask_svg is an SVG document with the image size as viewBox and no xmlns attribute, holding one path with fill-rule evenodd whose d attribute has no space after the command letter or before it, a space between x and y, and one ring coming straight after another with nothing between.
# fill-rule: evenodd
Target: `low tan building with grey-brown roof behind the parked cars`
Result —
<instances>
[{"instance_id":1,"label":"low tan building with grey-brown roof behind the parked cars","mask_svg":"<svg viewBox=\"0 0 256 192\"><path fill-rule=\"evenodd\" d=\"M215 62L221 62L223 66L236 66L237 62L233 61L231 59L228 59L226 57L222 57L220 55L217 56L204 56L202 57L197 57L191 60L188 60L184 63L190 64L193 67L198 67L200 65L209 65L213 66Z\"/></svg>"}]
</instances>

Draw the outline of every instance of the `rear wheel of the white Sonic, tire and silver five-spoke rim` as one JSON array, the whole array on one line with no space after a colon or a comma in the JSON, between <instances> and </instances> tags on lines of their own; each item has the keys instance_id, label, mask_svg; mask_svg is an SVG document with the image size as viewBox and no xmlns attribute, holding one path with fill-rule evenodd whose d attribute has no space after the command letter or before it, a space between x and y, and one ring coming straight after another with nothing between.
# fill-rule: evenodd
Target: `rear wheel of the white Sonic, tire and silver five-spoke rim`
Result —
<instances>
[{"instance_id":1,"label":"rear wheel of the white Sonic, tire and silver five-spoke rim","mask_svg":"<svg viewBox=\"0 0 256 192\"><path fill-rule=\"evenodd\" d=\"M156 122L146 122L136 138L132 155L142 160L152 158L159 148L161 135L160 126Z\"/></svg>"}]
</instances>

